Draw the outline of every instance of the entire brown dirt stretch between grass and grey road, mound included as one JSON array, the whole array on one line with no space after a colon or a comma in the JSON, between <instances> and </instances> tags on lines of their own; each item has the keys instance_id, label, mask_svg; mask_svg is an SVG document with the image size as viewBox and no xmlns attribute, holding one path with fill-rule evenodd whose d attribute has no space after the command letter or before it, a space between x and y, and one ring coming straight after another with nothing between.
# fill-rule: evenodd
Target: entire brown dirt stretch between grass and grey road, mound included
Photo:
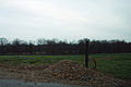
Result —
<instances>
[{"instance_id":1,"label":"entire brown dirt stretch between grass and grey road, mound included","mask_svg":"<svg viewBox=\"0 0 131 87\"><path fill-rule=\"evenodd\" d=\"M81 66L76 62L63 60L52 65L0 65L0 70L9 72L9 78L27 82L61 82L93 87L124 87L124 82L98 71Z\"/></svg>"}]
</instances>

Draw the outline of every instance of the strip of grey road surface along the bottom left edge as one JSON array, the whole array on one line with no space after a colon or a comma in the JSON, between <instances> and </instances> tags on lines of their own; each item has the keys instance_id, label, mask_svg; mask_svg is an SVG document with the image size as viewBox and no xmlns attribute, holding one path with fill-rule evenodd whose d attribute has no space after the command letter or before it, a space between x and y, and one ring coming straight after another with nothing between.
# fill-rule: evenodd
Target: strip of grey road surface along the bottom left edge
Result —
<instances>
[{"instance_id":1,"label":"strip of grey road surface along the bottom left edge","mask_svg":"<svg viewBox=\"0 0 131 87\"><path fill-rule=\"evenodd\" d=\"M82 87L82 86L57 83L26 83L24 80L16 79L0 79L0 87Z\"/></svg>"}]
</instances>

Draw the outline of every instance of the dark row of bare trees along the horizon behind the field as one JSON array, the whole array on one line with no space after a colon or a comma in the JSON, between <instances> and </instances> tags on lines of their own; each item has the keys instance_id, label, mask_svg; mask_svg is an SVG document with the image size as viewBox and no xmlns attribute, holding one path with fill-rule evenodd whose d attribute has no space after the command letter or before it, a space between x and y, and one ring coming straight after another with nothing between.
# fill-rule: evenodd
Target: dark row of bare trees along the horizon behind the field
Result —
<instances>
[{"instance_id":1,"label":"dark row of bare trees along the horizon behind the field","mask_svg":"<svg viewBox=\"0 0 131 87\"><path fill-rule=\"evenodd\" d=\"M131 42L124 40L90 40L84 38L68 42L44 38L36 41L20 39L9 41L7 38L0 38L0 54L84 54L87 40L90 41L90 53L131 53Z\"/></svg>"}]
</instances>

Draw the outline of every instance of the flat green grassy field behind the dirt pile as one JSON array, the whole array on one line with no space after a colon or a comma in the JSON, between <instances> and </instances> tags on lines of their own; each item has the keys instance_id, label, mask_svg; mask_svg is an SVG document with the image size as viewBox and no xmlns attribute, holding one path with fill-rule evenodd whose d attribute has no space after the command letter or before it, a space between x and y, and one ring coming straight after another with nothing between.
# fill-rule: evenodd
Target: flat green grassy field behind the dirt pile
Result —
<instances>
[{"instance_id":1,"label":"flat green grassy field behind the dirt pile","mask_svg":"<svg viewBox=\"0 0 131 87\"><path fill-rule=\"evenodd\" d=\"M131 79L131 54L92 54L95 58L97 70L115 77ZM84 65L84 55L0 55L0 63L17 64L52 64L60 60L72 60ZM90 67L93 67L92 61Z\"/></svg>"}]
</instances>

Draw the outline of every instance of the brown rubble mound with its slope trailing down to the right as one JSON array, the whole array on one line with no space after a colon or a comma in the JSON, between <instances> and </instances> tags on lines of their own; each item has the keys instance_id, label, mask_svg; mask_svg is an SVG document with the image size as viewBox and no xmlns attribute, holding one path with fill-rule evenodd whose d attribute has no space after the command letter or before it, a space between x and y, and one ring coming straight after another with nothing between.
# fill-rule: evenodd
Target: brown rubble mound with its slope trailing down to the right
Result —
<instances>
[{"instance_id":1,"label":"brown rubble mound with its slope trailing down to the right","mask_svg":"<svg viewBox=\"0 0 131 87\"><path fill-rule=\"evenodd\" d=\"M100 72L81 66L79 63L63 60L43 71L50 78L78 80L94 87L120 87L122 80Z\"/></svg>"}]
</instances>

